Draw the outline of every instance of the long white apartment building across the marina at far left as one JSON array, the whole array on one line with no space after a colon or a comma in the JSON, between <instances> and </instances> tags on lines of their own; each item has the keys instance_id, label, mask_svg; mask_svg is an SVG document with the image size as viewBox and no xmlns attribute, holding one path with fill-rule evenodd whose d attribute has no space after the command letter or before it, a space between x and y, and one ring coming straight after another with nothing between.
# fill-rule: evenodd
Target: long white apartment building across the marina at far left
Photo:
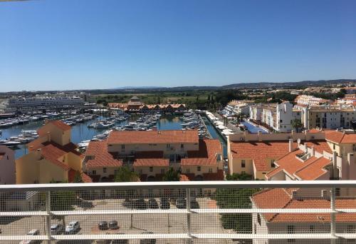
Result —
<instances>
[{"instance_id":1,"label":"long white apartment building across the marina at far left","mask_svg":"<svg viewBox=\"0 0 356 244\"><path fill-rule=\"evenodd\" d=\"M78 96L33 96L9 98L1 103L5 113L26 113L41 110L77 109L84 106L83 98Z\"/></svg>"}]
</instances>

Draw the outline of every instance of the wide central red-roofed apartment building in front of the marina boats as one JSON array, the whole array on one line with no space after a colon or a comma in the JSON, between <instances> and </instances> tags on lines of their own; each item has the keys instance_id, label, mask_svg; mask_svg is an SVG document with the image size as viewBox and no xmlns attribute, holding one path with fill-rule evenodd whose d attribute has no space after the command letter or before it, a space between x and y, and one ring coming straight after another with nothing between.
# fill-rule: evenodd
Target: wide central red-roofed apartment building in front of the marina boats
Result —
<instances>
[{"instance_id":1,"label":"wide central red-roofed apartment building in front of the marina boats","mask_svg":"<svg viewBox=\"0 0 356 244\"><path fill-rule=\"evenodd\" d=\"M112 180L123 164L141 181L162 180L169 166L204 179L222 170L221 146L219 140L199 140L197 130L112 131L106 141L90 142L84 167L94 181Z\"/></svg>"}]
</instances>

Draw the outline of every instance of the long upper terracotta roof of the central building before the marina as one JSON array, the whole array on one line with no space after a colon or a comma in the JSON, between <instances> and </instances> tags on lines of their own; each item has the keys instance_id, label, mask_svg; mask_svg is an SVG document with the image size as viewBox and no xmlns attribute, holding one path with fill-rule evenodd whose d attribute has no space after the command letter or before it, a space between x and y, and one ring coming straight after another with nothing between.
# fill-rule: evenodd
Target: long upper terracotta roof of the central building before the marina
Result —
<instances>
[{"instance_id":1,"label":"long upper terracotta roof of the central building before the marina","mask_svg":"<svg viewBox=\"0 0 356 244\"><path fill-rule=\"evenodd\" d=\"M108 144L198 143L197 130L191 131L112 131Z\"/></svg>"}]
</instances>

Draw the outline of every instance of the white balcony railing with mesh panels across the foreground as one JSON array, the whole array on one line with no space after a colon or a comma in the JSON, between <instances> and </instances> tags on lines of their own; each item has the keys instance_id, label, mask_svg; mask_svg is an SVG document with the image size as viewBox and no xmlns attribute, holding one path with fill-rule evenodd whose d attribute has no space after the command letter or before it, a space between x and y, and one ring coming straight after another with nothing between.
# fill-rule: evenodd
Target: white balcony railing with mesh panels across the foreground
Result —
<instances>
[{"instance_id":1,"label":"white balcony railing with mesh panels across the foreground","mask_svg":"<svg viewBox=\"0 0 356 244\"><path fill-rule=\"evenodd\" d=\"M253 194L277 188L296 202L286 207L281 195L268 195L276 207L259 208L251 201ZM355 189L356 181L0 185L0 242L352 243ZM298 208L308 200L310 207ZM99 228L100 222L112 220L117 229L105 223ZM51 226L73 221L80 228L51 233ZM26 235L33 229L38 235Z\"/></svg>"}]
</instances>

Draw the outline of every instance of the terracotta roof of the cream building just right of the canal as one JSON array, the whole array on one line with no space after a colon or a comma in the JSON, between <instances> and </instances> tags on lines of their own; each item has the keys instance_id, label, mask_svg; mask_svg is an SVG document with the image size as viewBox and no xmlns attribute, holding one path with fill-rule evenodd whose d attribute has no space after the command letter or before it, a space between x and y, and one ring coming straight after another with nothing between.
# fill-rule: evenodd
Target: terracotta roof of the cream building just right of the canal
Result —
<instances>
[{"instance_id":1,"label":"terracotta roof of the cream building just right of the canal","mask_svg":"<svg viewBox=\"0 0 356 244\"><path fill-rule=\"evenodd\" d=\"M269 171L267 159L278 159L289 152L289 141L231 141L231 153L236 158L253 160L256 171ZM293 143L296 148L297 143Z\"/></svg>"}]
</instances>

